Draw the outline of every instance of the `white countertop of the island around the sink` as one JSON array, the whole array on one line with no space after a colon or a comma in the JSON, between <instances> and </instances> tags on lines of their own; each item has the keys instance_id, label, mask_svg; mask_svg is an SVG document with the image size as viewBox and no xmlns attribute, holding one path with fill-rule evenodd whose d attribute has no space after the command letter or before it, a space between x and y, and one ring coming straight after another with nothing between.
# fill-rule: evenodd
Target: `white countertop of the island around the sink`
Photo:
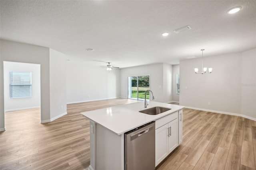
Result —
<instances>
[{"instance_id":1,"label":"white countertop of the island around the sink","mask_svg":"<svg viewBox=\"0 0 256 170\"><path fill-rule=\"evenodd\" d=\"M171 110L157 115L149 115L139 112L140 110L154 106L171 108ZM120 135L148 122L152 122L153 120L157 120L168 114L181 110L184 106L148 101L147 108L144 108L144 101L142 101L92 110L89 112L82 112L81 114Z\"/></svg>"}]
</instances>

